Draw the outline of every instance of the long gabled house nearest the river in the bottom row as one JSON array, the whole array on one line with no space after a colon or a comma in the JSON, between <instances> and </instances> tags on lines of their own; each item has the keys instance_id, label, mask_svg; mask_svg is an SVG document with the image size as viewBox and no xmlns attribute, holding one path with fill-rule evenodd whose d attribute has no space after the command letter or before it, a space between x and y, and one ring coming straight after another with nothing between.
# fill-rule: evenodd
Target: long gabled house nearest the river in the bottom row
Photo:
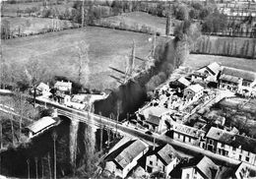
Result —
<instances>
[{"instance_id":1,"label":"long gabled house nearest the river in the bottom row","mask_svg":"<svg viewBox=\"0 0 256 179\"><path fill-rule=\"evenodd\" d=\"M125 178L148 149L149 145L142 140L123 138L104 158L104 170Z\"/></svg>"}]
</instances>

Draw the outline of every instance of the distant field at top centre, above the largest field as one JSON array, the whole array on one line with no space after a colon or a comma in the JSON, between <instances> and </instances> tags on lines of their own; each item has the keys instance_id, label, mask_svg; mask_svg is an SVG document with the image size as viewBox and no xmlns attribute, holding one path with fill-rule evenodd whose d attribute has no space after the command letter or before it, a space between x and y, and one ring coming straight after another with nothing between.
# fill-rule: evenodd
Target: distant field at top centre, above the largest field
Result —
<instances>
[{"instance_id":1,"label":"distant field at top centre, above the largest field","mask_svg":"<svg viewBox=\"0 0 256 179\"><path fill-rule=\"evenodd\" d=\"M165 24L166 19L160 18L157 16L152 16L148 13L143 12L132 12L124 13L120 16L114 16L109 18L104 18L100 20L101 22L109 22L112 25L118 26L120 23L124 23L128 27L138 25L141 28L143 25L150 27L152 30L157 30L160 34L165 34ZM172 21L172 24L175 25L178 21ZM173 32L173 26L170 28L170 33Z\"/></svg>"}]
</instances>

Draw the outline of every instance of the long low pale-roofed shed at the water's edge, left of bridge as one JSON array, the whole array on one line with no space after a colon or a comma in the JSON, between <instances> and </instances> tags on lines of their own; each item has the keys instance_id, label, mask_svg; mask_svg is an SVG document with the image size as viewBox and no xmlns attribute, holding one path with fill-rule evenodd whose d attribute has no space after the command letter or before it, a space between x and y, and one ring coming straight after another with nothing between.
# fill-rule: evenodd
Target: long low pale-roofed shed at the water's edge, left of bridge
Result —
<instances>
[{"instance_id":1,"label":"long low pale-roofed shed at the water's edge, left of bridge","mask_svg":"<svg viewBox=\"0 0 256 179\"><path fill-rule=\"evenodd\" d=\"M43 131L53 127L58 122L57 118L52 118L49 116L43 117L35 122L33 122L30 126L27 127L29 130L29 138L33 138Z\"/></svg>"}]
</instances>

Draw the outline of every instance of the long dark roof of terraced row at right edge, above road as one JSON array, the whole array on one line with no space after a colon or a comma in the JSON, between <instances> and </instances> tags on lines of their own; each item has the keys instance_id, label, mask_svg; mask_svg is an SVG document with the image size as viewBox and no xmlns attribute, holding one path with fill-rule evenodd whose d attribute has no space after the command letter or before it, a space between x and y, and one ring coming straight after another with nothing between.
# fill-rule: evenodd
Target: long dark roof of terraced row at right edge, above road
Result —
<instances>
[{"instance_id":1,"label":"long dark roof of terraced row at right edge, above road","mask_svg":"<svg viewBox=\"0 0 256 179\"><path fill-rule=\"evenodd\" d=\"M237 135L235 133L212 127L206 137L234 148L240 148L256 153L256 140L246 136Z\"/></svg>"}]
</instances>

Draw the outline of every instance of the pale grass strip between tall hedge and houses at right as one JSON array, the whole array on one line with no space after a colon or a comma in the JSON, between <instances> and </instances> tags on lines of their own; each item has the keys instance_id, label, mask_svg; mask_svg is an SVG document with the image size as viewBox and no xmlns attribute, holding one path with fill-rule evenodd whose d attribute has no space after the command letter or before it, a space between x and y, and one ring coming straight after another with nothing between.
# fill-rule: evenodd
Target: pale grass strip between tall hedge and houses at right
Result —
<instances>
[{"instance_id":1,"label":"pale grass strip between tall hedge and houses at right","mask_svg":"<svg viewBox=\"0 0 256 179\"><path fill-rule=\"evenodd\" d=\"M184 66L199 68L212 62L219 62L225 66L256 72L256 60L215 55L190 54Z\"/></svg>"}]
</instances>

